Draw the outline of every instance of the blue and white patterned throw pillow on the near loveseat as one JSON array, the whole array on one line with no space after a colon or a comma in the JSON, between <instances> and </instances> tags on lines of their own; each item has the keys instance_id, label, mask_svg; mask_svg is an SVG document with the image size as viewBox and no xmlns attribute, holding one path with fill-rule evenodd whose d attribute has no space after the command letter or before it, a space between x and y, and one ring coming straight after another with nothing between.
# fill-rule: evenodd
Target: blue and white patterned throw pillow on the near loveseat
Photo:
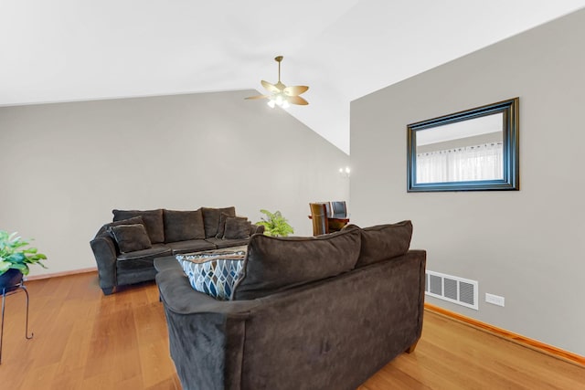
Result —
<instances>
[{"instance_id":1,"label":"blue and white patterned throw pillow on the near loveseat","mask_svg":"<svg viewBox=\"0 0 585 390\"><path fill-rule=\"evenodd\" d=\"M240 277L246 247L177 255L193 289L218 300L229 300Z\"/></svg>"}]
</instances>

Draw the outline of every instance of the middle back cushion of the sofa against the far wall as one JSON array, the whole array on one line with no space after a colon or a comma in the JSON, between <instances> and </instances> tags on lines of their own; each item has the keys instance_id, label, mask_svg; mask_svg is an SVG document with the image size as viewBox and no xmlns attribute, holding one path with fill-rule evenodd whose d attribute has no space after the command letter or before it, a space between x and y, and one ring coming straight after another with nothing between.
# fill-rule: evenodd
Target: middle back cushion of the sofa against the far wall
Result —
<instances>
[{"instance_id":1,"label":"middle back cushion of the sofa against the far wall","mask_svg":"<svg viewBox=\"0 0 585 390\"><path fill-rule=\"evenodd\" d=\"M195 211L163 210L165 242L204 239L205 227L201 209Z\"/></svg>"}]
</instances>

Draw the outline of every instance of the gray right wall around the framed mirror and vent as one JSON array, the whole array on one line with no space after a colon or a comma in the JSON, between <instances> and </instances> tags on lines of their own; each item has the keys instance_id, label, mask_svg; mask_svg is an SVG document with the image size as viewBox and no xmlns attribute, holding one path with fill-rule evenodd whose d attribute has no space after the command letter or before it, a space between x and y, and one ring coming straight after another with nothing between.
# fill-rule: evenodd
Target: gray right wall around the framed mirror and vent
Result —
<instances>
[{"instance_id":1,"label":"gray right wall around the framed mirror and vent","mask_svg":"<svg viewBox=\"0 0 585 390\"><path fill-rule=\"evenodd\" d=\"M585 11L353 101L352 220L411 219L427 268L479 281L451 311L585 355ZM406 126L520 98L519 192L406 192ZM484 302L505 297L505 308Z\"/></svg>"}]
</instances>

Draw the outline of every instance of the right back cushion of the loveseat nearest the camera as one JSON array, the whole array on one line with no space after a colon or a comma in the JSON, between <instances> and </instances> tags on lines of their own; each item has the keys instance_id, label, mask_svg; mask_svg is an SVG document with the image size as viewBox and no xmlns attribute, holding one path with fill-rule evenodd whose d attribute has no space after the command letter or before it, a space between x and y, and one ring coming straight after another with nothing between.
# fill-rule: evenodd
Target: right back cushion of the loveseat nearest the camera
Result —
<instances>
[{"instance_id":1,"label":"right back cushion of the loveseat nearest the camera","mask_svg":"<svg viewBox=\"0 0 585 390\"><path fill-rule=\"evenodd\" d=\"M391 225L365 227L361 229L361 234L362 248L356 268L387 258L395 258L408 252L412 237L412 223L402 221Z\"/></svg>"}]
</instances>

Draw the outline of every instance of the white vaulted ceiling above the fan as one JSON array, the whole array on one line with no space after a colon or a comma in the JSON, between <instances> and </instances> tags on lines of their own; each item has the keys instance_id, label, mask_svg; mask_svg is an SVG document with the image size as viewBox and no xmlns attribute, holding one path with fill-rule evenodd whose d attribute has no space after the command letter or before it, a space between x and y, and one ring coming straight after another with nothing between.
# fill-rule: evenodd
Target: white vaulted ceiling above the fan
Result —
<instances>
[{"instance_id":1,"label":"white vaulted ceiling above the fan","mask_svg":"<svg viewBox=\"0 0 585 390\"><path fill-rule=\"evenodd\" d=\"M585 0L0 0L0 106L309 85L287 109L349 153L349 102ZM250 104L263 104L250 100Z\"/></svg>"}]
</instances>

